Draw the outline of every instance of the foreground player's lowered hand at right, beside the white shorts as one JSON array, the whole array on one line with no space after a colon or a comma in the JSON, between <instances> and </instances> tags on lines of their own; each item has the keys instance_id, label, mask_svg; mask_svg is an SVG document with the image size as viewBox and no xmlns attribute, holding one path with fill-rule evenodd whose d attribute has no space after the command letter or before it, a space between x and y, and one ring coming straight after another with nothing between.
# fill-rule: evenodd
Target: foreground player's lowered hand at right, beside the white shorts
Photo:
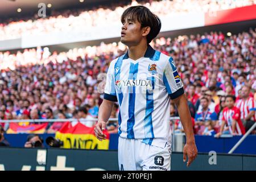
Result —
<instances>
[{"instance_id":1,"label":"foreground player's lowered hand at right, beside the white shorts","mask_svg":"<svg viewBox=\"0 0 256 182\"><path fill-rule=\"evenodd\" d=\"M183 162L186 162L188 156L187 167L196 159L197 148L196 143L186 143L183 148Z\"/></svg>"}]
</instances>

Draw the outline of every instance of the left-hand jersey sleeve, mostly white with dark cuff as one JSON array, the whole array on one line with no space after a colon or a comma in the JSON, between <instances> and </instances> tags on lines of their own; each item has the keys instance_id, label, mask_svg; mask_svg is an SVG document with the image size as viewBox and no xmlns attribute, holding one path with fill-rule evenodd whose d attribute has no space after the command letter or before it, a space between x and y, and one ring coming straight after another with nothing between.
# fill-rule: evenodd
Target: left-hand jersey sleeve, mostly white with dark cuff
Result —
<instances>
[{"instance_id":1,"label":"left-hand jersey sleeve, mostly white with dark cuff","mask_svg":"<svg viewBox=\"0 0 256 182\"><path fill-rule=\"evenodd\" d=\"M115 93L115 80L114 80L114 61L110 63L108 73L106 75L104 99L117 102L117 94Z\"/></svg>"}]
</instances>

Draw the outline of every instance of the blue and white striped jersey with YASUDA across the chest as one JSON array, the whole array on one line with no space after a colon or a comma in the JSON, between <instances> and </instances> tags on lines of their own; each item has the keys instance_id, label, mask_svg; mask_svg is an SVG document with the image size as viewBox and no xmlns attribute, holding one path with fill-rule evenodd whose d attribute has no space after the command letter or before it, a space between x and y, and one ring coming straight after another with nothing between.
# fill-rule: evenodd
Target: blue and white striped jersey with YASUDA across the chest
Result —
<instances>
[{"instance_id":1,"label":"blue and white striped jersey with YASUDA across the chest","mask_svg":"<svg viewBox=\"0 0 256 182\"><path fill-rule=\"evenodd\" d=\"M148 46L144 57L110 63L104 98L119 103L119 137L164 147L171 143L170 99L184 93L172 57Z\"/></svg>"}]
</instances>

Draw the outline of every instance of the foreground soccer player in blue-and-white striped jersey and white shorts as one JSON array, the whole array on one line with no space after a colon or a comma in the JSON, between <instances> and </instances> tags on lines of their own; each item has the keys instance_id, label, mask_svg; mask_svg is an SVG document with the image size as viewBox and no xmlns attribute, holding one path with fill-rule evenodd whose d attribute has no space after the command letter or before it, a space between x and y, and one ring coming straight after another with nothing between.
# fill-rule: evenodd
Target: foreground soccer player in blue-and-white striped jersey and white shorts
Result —
<instances>
[{"instance_id":1,"label":"foreground soccer player in blue-and-white striped jersey and white shorts","mask_svg":"<svg viewBox=\"0 0 256 182\"><path fill-rule=\"evenodd\" d=\"M170 170L172 99L187 137L183 161L188 157L189 166L197 148L183 83L172 57L149 45L159 34L160 19L144 6L132 6L123 12L121 22L121 42L129 50L110 63L94 129L96 137L105 139L102 130L118 101L119 169Z\"/></svg>"}]
</instances>

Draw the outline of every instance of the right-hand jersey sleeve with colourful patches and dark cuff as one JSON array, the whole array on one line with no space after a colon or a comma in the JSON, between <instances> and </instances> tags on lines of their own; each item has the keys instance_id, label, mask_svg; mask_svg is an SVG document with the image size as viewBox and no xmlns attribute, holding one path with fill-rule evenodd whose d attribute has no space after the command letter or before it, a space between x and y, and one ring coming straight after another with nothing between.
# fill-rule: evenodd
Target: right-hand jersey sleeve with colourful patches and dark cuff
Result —
<instances>
[{"instance_id":1,"label":"right-hand jersey sleeve with colourful patches and dark cuff","mask_svg":"<svg viewBox=\"0 0 256 182\"><path fill-rule=\"evenodd\" d=\"M168 59L168 63L164 68L163 82L171 99L175 99L184 93L183 83L179 73L177 72L177 68L172 57Z\"/></svg>"}]
</instances>

